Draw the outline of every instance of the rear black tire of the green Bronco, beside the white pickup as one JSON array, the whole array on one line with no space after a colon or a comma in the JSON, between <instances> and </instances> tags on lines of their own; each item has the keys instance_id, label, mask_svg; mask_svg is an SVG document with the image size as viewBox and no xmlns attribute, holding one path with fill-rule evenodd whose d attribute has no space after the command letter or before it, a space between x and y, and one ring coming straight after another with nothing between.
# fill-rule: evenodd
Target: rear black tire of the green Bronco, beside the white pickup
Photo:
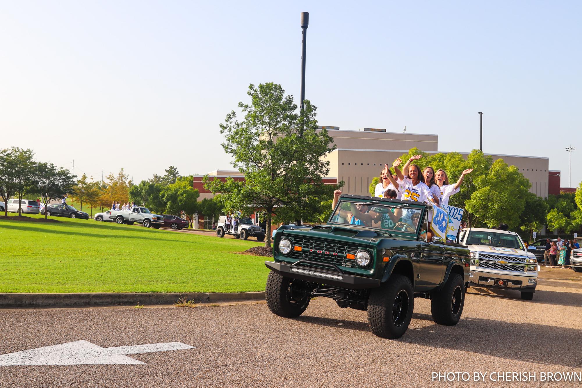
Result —
<instances>
[{"instance_id":1,"label":"rear black tire of the green Bronco, beside the white pickup","mask_svg":"<svg viewBox=\"0 0 582 388\"><path fill-rule=\"evenodd\" d=\"M451 273L440 291L431 296L432 320L439 325L453 326L461 319L465 304L463 276Z\"/></svg>"}]
</instances>

